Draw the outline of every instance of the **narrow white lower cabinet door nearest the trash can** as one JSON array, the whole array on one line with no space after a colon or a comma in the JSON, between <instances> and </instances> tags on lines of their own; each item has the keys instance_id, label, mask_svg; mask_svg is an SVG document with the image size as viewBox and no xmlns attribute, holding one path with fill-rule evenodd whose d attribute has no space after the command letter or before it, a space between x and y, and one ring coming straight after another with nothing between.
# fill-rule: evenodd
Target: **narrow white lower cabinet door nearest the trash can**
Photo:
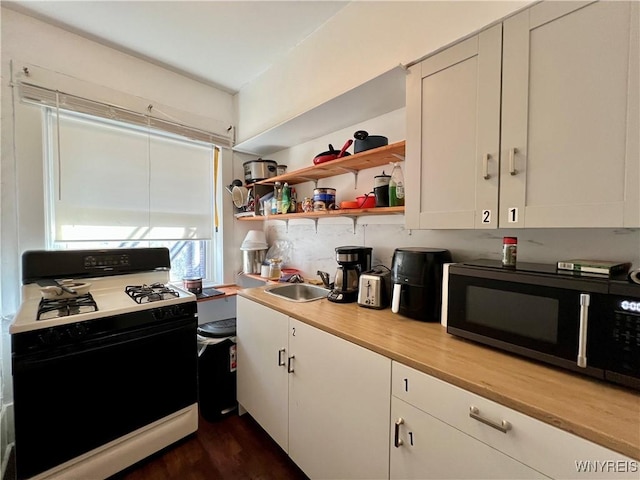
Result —
<instances>
[{"instance_id":1,"label":"narrow white lower cabinet door nearest the trash can","mask_svg":"<svg viewBox=\"0 0 640 480\"><path fill-rule=\"evenodd\" d=\"M289 317L237 299L238 403L288 451Z\"/></svg>"}]
</instances>

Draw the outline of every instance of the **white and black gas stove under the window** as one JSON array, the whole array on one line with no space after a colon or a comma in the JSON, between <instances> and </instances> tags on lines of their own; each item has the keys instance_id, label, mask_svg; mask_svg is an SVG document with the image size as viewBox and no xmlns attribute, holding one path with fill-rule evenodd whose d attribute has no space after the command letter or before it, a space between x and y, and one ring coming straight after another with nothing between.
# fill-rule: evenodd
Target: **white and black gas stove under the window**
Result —
<instances>
[{"instance_id":1,"label":"white and black gas stove under the window","mask_svg":"<svg viewBox=\"0 0 640 480\"><path fill-rule=\"evenodd\" d=\"M197 430L196 296L169 284L166 248L22 261L9 328L17 480L107 478Z\"/></svg>"}]
</instances>

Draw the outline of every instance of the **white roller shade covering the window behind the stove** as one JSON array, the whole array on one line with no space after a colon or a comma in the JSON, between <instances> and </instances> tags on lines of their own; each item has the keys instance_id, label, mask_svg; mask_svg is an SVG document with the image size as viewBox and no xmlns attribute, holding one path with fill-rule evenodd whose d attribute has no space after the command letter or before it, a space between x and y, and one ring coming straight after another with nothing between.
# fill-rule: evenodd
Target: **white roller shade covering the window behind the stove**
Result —
<instances>
[{"instance_id":1,"label":"white roller shade covering the window behind the stove","mask_svg":"<svg viewBox=\"0 0 640 480\"><path fill-rule=\"evenodd\" d=\"M210 239L214 146L86 115L48 115L54 240Z\"/></svg>"}]
</instances>

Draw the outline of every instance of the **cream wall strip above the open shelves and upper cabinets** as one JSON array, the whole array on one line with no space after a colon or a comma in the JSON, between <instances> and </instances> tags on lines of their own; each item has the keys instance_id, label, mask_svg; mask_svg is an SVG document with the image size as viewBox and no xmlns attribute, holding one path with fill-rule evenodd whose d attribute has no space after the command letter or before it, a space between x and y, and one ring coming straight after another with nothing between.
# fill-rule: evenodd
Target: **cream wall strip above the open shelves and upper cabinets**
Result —
<instances>
[{"instance_id":1,"label":"cream wall strip above the open shelves and upper cabinets","mask_svg":"<svg viewBox=\"0 0 640 480\"><path fill-rule=\"evenodd\" d=\"M356 1L236 95L238 141L532 2Z\"/></svg>"}]
</instances>

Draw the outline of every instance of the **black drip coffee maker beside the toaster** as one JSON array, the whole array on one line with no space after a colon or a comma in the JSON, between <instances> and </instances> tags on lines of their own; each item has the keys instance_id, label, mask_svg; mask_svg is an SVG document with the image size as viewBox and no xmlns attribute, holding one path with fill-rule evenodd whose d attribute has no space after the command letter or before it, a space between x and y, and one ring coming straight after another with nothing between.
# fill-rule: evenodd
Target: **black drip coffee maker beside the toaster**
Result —
<instances>
[{"instance_id":1,"label":"black drip coffee maker beside the toaster","mask_svg":"<svg viewBox=\"0 0 640 480\"><path fill-rule=\"evenodd\" d=\"M336 303L351 303L358 298L358 280L360 274L371 269L369 247L336 247L338 270L333 282L333 290L327 299Z\"/></svg>"}]
</instances>

